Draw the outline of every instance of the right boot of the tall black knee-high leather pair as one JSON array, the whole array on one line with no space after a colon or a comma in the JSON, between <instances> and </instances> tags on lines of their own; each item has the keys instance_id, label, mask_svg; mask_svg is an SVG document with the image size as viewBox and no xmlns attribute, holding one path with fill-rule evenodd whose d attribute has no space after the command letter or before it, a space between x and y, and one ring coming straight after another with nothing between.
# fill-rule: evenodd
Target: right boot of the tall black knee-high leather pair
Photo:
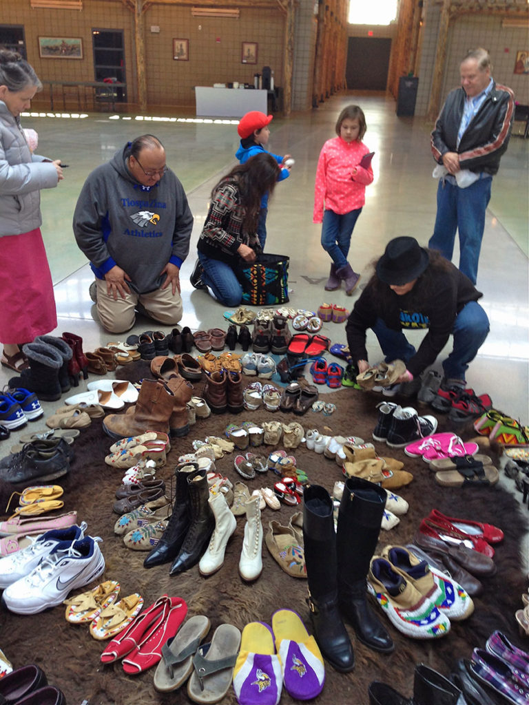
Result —
<instances>
[{"instance_id":1,"label":"right boot of the tall black knee-high leather pair","mask_svg":"<svg viewBox=\"0 0 529 705\"><path fill-rule=\"evenodd\" d=\"M343 488L336 532L340 611L360 642L383 654L393 651L394 644L367 605L365 578L377 546L386 498L386 491L378 485L350 477Z\"/></svg>"}]
</instances>

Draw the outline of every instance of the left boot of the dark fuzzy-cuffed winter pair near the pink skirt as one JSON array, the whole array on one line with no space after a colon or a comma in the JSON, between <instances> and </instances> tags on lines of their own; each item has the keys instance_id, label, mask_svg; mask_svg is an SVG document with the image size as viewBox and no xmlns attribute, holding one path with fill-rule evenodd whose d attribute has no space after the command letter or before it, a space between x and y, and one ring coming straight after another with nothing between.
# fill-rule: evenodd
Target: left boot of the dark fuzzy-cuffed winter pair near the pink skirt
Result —
<instances>
[{"instance_id":1,"label":"left boot of the dark fuzzy-cuffed winter pair near the pink skirt","mask_svg":"<svg viewBox=\"0 0 529 705\"><path fill-rule=\"evenodd\" d=\"M30 367L23 369L19 377L11 377L8 381L9 387L22 387L35 392L40 401L59 400L59 369L62 367L63 358L58 351L45 343L28 343L23 346L23 353L28 358Z\"/></svg>"}]
</instances>

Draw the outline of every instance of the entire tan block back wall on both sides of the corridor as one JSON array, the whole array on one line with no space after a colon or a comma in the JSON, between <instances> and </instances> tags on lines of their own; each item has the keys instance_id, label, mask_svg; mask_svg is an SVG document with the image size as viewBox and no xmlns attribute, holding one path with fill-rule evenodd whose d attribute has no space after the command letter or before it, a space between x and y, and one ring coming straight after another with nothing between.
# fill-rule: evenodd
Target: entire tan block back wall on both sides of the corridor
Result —
<instances>
[{"instance_id":1,"label":"entire tan block back wall on both sides of the corridor","mask_svg":"<svg viewBox=\"0 0 529 705\"><path fill-rule=\"evenodd\" d=\"M293 66L293 110L309 109L317 23L313 0L300 0L296 10L295 59ZM440 6L425 0L425 23L419 66L416 115L425 115L430 97L434 57L439 30ZM123 4L85 0L83 11L32 10L30 0L0 0L0 23L23 25L28 60L42 80L94 80L92 29L123 30L126 81L131 102L138 100L134 47L134 18ZM151 32L158 26L159 32ZM394 37L396 25L377 27L350 25L349 36ZM254 73L263 66L274 70L276 86L283 84L285 15L279 10L250 9L241 2L238 20L193 18L190 6L152 5L145 13L147 100L150 106L193 106L195 85L214 82L253 83ZM39 36L81 37L83 60L40 59ZM189 61L174 61L172 40L189 39ZM241 63L242 42L257 42L257 63ZM442 99L458 85L458 66L470 47L484 46L492 56L494 79L516 93L519 102L529 103L529 76L513 73L516 51L529 49L523 28L501 27L498 16L462 16L451 23L448 61Z\"/></svg>"}]
</instances>

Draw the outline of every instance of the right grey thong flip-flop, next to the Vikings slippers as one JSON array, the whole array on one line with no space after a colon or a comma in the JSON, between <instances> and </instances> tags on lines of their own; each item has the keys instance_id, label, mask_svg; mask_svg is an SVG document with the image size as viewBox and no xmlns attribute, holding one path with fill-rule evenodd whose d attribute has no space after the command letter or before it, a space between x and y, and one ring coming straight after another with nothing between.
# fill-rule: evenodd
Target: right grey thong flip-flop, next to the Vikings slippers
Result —
<instances>
[{"instance_id":1,"label":"right grey thong flip-flop, next to the Vikings slippers","mask_svg":"<svg viewBox=\"0 0 529 705\"><path fill-rule=\"evenodd\" d=\"M216 703L229 691L233 666L241 644L241 632L221 624L210 644L203 644L193 656L194 671L188 680L188 696L195 703Z\"/></svg>"}]
</instances>

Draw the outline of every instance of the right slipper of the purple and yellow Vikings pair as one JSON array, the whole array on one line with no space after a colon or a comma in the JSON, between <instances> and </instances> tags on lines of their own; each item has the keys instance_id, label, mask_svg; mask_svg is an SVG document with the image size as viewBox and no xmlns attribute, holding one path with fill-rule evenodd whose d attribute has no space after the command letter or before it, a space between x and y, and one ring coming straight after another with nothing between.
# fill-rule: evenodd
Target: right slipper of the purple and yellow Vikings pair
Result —
<instances>
[{"instance_id":1,"label":"right slipper of the purple and yellow Vikings pair","mask_svg":"<svg viewBox=\"0 0 529 705\"><path fill-rule=\"evenodd\" d=\"M288 694L298 700L317 697L323 689L325 667L315 638L308 635L300 616L292 610L274 612L272 630Z\"/></svg>"}]
</instances>

